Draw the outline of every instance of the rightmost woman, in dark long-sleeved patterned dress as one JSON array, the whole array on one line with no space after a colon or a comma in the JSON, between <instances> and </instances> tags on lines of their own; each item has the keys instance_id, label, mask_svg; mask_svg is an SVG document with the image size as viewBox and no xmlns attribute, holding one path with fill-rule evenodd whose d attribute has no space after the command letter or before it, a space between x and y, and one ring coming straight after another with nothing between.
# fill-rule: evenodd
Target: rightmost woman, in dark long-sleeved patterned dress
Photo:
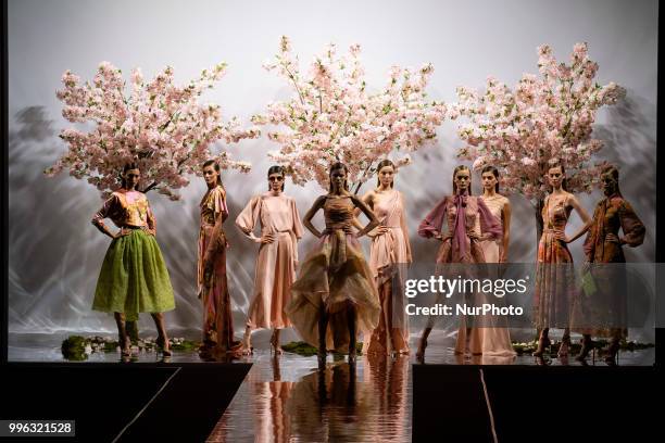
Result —
<instances>
[{"instance_id":1,"label":"rightmost woman, in dark long-sleeved patterned dress","mask_svg":"<svg viewBox=\"0 0 665 443\"><path fill-rule=\"evenodd\" d=\"M623 246L628 245L636 248L642 244L647 229L644 224L637 216L630 203L628 203L618 183L618 169L615 166L607 166L601 174L601 183L605 198L595 205L593 219L589 233L585 240L585 255L587 262L591 264L591 269L598 274L598 284L603 286L606 294L605 300L593 300L594 303L603 303L604 306L598 306L605 314L599 317L588 315L578 320L579 324L587 325L595 322L594 328L582 328L582 346L576 359L584 362L593 349L594 344L591 337L610 338L611 342L605 355L605 363L614 365L616 354L619 349L622 339L628 334L626 328L626 280L622 275L622 268L612 266L603 267L602 264L625 263ZM624 231L624 236L619 237L619 229ZM593 264L600 264L594 267ZM600 279L598 277L601 277ZM581 306L585 311L594 311L594 306ZM608 314L608 315L607 315ZM601 321L599 321L601 320ZM600 328L598 325L608 325L607 328Z\"/></svg>"}]
</instances>

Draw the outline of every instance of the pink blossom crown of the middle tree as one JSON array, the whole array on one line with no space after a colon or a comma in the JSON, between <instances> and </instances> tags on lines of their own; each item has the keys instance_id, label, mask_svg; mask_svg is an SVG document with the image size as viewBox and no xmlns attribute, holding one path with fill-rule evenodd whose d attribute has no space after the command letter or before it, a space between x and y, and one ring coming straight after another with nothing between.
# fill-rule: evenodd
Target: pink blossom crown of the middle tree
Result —
<instances>
[{"instance_id":1,"label":"pink blossom crown of the middle tree","mask_svg":"<svg viewBox=\"0 0 665 443\"><path fill-rule=\"evenodd\" d=\"M402 161L405 153L436 140L447 109L427 100L431 64L417 71L393 66L386 87L369 93L359 45L340 56L329 45L306 74L300 72L287 37L281 37L279 48L264 67L285 77L294 97L268 103L266 112L252 122L279 126L268 132L279 151L268 155L287 167L296 183L316 180L327 189L330 165L342 162L349 167L350 185L357 190L381 159L390 155L396 163L407 164L409 160Z\"/></svg>"}]
</instances>

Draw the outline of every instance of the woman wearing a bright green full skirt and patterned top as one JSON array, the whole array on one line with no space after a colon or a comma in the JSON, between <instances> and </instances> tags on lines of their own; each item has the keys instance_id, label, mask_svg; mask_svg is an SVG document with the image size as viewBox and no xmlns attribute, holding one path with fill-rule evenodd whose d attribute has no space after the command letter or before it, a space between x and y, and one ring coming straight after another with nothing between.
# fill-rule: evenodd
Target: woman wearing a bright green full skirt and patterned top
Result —
<instances>
[{"instance_id":1,"label":"woman wearing a bright green full skirt and patterned top","mask_svg":"<svg viewBox=\"0 0 665 443\"><path fill-rule=\"evenodd\" d=\"M92 224L113 239L97 280L92 309L113 313L124 360L131 354L126 321L138 320L139 313L150 313L158 330L156 343L164 356L171 356L162 313L175 308L168 270L155 240L156 221L146 194L137 190L140 174L136 163L126 164L122 188L92 218ZM111 218L120 231L111 232L104 218Z\"/></svg>"}]
</instances>

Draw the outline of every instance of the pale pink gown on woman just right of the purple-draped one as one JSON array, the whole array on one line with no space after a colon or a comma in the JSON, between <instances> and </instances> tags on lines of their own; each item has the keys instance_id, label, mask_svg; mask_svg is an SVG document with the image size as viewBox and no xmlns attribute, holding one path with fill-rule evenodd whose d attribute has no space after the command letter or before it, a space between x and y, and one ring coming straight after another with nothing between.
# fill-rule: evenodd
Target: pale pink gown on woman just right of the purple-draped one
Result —
<instances>
[{"instance_id":1,"label":"pale pink gown on woman just right of the purple-draped one","mask_svg":"<svg viewBox=\"0 0 665 443\"><path fill-rule=\"evenodd\" d=\"M499 194L495 194L495 197L491 199L481 199L487 207L489 207L494 218L501 220L501 229L503 231L502 212L509 199ZM485 255L485 263L499 263L499 257L503 249L502 238L485 240L480 242L480 248ZM503 317L485 316L484 321L485 326L482 328L474 328L472 330L470 341L474 343L474 347L480 351L484 356L510 357L516 355L516 352L513 350L513 344L511 343L507 319Z\"/></svg>"}]
</instances>

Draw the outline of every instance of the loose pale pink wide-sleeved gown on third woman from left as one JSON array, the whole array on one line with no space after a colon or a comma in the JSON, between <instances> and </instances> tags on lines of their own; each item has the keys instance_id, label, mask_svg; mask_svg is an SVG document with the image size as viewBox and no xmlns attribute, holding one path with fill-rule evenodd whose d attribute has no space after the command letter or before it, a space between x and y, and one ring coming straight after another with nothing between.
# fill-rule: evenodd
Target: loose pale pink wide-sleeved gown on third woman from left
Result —
<instances>
[{"instance_id":1,"label":"loose pale pink wide-sleeved gown on third woman from left","mask_svg":"<svg viewBox=\"0 0 665 443\"><path fill-rule=\"evenodd\" d=\"M254 197L236 218L246 235L261 226L261 236L272 233L272 243L261 244L254 271L254 295L247 326L250 328L287 328L291 326L285 308L291 300L296 280L298 239L302 237L300 214L292 198L269 192Z\"/></svg>"}]
</instances>

